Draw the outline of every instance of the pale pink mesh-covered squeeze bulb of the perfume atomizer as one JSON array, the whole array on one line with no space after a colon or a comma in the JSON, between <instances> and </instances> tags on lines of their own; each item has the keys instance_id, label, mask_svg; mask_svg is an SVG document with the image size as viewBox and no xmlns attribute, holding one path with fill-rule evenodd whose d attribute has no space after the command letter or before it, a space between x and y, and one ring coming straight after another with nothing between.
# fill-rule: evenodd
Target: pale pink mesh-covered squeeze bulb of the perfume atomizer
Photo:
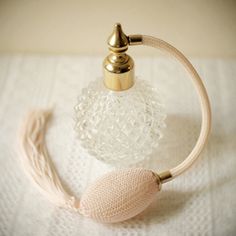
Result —
<instances>
[{"instance_id":1,"label":"pale pink mesh-covered squeeze bulb of the perfume atomizer","mask_svg":"<svg viewBox=\"0 0 236 236\"><path fill-rule=\"evenodd\" d=\"M83 194L80 213L104 223L124 221L142 212L159 190L160 181L151 170L113 171Z\"/></svg>"}]
</instances>

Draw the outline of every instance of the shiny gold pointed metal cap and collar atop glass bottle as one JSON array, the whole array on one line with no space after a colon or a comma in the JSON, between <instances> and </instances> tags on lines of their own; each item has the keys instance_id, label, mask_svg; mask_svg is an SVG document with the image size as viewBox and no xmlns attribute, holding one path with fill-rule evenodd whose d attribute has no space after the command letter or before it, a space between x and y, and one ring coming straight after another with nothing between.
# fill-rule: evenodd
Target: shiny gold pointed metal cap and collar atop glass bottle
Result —
<instances>
[{"instance_id":1,"label":"shiny gold pointed metal cap and collar atop glass bottle","mask_svg":"<svg viewBox=\"0 0 236 236\"><path fill-rule=\"evenodd\" d=\"M111 90L127 90L134 84L134 61L125 53L129 38L124 34L121 24L115 24L107 43L110 54L103 62L104 84Z\"/></svg>"}]
</instances>

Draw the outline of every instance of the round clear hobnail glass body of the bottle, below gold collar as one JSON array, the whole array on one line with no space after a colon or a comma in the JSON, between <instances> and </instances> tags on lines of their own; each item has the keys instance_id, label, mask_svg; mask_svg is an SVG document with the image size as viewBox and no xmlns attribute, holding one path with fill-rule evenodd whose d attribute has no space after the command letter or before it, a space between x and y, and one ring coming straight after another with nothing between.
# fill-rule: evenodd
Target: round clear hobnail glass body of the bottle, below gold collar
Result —
<instances>
[{"instance_id":1,"label":"round clear hobnail glass body of the bottle, below gold collar","mask_svg":"<svg viewBox=\"0 0 236 236\"><path fill-rule=\"evenodd\" d=\"M107 89L101 79L93 81L82 90L75 111L81 146L115 165L136 163L151 154L165 126L157 90L140 79L122 92Z\"/></svg>"}]
</instances>

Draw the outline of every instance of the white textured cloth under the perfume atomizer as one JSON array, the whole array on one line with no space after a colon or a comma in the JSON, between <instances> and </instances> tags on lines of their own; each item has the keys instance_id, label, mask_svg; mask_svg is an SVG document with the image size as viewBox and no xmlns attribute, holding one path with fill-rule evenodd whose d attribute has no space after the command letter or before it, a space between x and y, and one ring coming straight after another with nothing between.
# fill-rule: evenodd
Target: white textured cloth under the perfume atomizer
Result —
<instances>
[{"instance_id":1,"label":"white textured cloth under the perfume atomizer","mask_svg":"<svg viewBox=\"0 0 236 236\"><path fill-rule=\"evenodd\" d=\"M0 56L0 235L235 235L236 61L192 60L209 91L213 129L202 158L163 185L156 201L133 220L106 225L52 206L19 166L16 137L31 107L54 104L47 141L53 161L80 196L112 169L81 152L73 131L73 106L89 81L101 76L102 58ZM159 148L139 166L163 170L194 145L200 111L184 70L167 58L136 60L136 74L151 80L166 103L167 128Z\"/></svg>"}]
</instances>

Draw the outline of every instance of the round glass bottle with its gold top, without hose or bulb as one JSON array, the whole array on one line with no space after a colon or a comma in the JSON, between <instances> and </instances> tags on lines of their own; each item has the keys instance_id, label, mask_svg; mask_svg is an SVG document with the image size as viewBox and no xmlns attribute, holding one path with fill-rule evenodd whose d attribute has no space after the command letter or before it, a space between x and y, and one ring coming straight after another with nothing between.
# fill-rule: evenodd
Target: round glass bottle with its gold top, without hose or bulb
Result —
<instances>
[{"instance_id":1,"label":"round glass bottle with its gold top, without hose or bulb","mask_svg":"<svg viewBox=\"0 0 236 236\"><path fill-rule=\"evenodd\" d=\"M160 95L147 80L135 76L126 54L131 42L120 24L108 38L110 54L103 79L82 90L75 106L79 144L90 155L113 165L130 165L148 157L165 127Z\"/></svg>"}]
</instances>

